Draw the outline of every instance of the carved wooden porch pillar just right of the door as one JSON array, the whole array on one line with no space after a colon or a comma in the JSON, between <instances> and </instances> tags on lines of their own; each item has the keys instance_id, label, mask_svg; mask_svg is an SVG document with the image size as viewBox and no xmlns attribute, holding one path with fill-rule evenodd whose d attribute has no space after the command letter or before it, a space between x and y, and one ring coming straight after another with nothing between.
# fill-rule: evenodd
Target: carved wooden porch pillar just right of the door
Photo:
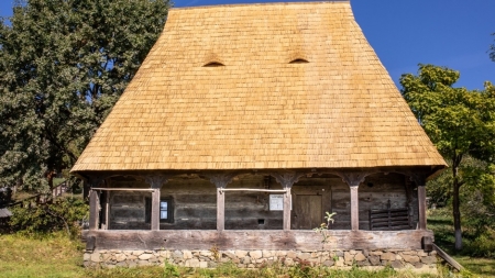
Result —
<instances>
[{"instance_id":1,"label":"carved wooden porch pillar just right of the door","mask_svg":"<svg viewBox=\"0 0 495 278\"><path fill-rule=\"evenodd\" d=\"M342 180L348 184L351 191L351 230L358 231L360 230L360 198L359 198L359 188L360 184L364 181L366 176L372 173L365 171L355 171L355 173L339 173Z\"/></svg>"}]
</instances>

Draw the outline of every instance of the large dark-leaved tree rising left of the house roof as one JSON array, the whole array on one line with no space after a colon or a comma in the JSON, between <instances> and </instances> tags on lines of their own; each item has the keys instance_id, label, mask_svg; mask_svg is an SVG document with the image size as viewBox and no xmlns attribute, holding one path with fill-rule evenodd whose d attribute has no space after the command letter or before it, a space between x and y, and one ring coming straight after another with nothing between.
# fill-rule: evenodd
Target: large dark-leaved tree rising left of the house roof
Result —
<instances>
[{"instance_id":1,"label":"large dark-leaved tree rising left of the house roof","mask_svg":"<svg viewBox=\"0 0 495 278\"><path fill-rule=\"evenodd\" d=\"M168 0L26 0L0 21L0 187L70 167L155 43Z\"/></svg>"}]
</instances>

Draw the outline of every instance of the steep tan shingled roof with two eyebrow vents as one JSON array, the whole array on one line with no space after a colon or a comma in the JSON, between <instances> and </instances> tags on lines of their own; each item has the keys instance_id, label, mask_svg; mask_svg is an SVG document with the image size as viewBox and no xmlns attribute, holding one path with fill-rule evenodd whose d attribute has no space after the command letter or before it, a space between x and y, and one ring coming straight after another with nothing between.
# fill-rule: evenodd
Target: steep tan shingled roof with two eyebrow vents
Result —
<instances>
[{"instance_id":1,"label":"steep tan shingled roof with two eyebrow vents","mask_svg":"<svg viewBox=\"0 0 495 278\"><path fill-rule=\"evenodd\" d=\"M170 10L73 171L444 165L344 1Z\"/></svg>"}]
</instances>

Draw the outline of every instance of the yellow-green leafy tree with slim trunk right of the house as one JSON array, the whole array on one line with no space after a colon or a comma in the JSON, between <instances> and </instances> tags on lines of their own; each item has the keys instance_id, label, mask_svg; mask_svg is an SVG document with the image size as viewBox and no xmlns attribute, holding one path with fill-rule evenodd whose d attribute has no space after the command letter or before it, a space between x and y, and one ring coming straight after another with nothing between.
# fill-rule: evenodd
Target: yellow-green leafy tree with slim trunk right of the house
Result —
<instances>
[{"instance_id":1,"label":"yellow-green leafy tree with slim trunk right of the house","mask_svg":"<svg viewBox=\"0 0 495 278\"><path fill-rule=\"evenodd\" d=\"M400 77L403 97L451 167L455 249L462 248L461 187L492 187L493 182L486 170L462 168L462 162L471 156L492 167L495 151L495 90L490 82L484 91L453 88L459 77L459 71L433 65L419 65L418 76Z\"/></svg>"}]
</instances>

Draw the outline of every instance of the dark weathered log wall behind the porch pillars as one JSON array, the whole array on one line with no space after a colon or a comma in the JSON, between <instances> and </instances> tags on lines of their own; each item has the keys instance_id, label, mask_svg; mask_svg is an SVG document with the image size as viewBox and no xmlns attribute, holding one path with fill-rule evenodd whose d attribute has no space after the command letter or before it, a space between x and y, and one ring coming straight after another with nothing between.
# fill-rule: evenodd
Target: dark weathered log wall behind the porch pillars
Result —
<instances>
[{"instance_id":1,"label":"dark weathered log wall behind the porch pillars","mask_svg":"<svg viewBox=\"0 0 495 278\"><path fill-rule=\"evenodd\" d=\"M113 188L150 188L144 181L113 180ZM243 175L228 185L231 188L282 189L274 178L263 175ZM321 219L326 211L337 212L332 230L351 229L350 189L333 176L305 177L295 184L293 202L302 196L321 197ZM178 176L161 189L162 198L173 200L173 223L161 223L161 230L215 230L217 227L217 189L208 180L193 176ZM109 230L150 230L150 210L146 198L151 192L111 191L102 199L103 214L109 215ZM108 201L108 204L105 203ZM369 230L369 211L392 208L410 208L413 229L418 221L417 191L399 174L375 174L369 176L359 188L360 230ZM304 216L293 210L292 229L300 229ZM102 215L105 220L106 216ZM318 221L317 221L318 222ZM226 192L226 230L282 230L283 212L270 210L270 193L252 191ZM319 226L314 223L306 230Z\"/></svg>"}]
</instances>

